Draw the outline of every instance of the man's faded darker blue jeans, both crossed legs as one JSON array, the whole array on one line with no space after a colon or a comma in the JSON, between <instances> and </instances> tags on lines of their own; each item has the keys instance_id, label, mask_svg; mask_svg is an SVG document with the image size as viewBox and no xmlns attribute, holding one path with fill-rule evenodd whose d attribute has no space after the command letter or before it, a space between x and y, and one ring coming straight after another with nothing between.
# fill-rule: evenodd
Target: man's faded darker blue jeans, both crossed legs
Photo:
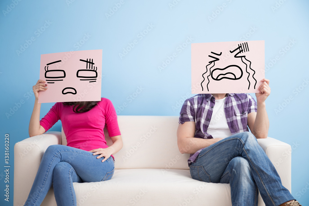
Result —
<instances>
[{"instance_id":1,"label":"man's faded darker blue jeans, both crossed legs","mask_svg":"<svg viewBox=\"0 0 309 206\"><path fill-rule=\"evenodd\" d=\"M257 205L258 191L265 205L294 200L251 132L224 138L203 149L190 165L193 179L230 183L232 205Z\"/></svg>"}]
</instances>

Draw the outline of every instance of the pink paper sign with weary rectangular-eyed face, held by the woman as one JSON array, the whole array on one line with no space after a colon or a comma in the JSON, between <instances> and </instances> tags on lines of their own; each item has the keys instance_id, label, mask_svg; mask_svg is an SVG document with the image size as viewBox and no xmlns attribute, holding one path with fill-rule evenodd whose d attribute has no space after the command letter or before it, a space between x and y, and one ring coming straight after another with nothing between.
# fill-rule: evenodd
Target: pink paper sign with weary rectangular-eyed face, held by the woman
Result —
<instances>
[{"instance_id":1,"label":"pink paper sign with weary rectangular-eyed face, held by the woman","mask_svg":"<svg viewBox=\"0 0 309 206\"><path fill-rule=\"evenodd\" d=\"M42 54L39 103L100 101L102 49Z\"/></svg>"}]
</instances>

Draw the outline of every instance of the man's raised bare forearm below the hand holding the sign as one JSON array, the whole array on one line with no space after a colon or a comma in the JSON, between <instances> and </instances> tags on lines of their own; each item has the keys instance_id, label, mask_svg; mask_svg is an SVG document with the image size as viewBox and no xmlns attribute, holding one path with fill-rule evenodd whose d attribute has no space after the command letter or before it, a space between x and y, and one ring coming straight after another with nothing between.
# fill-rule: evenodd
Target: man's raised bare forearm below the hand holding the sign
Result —
<instances>
[{"instance_id":1,"label":"man's raised bare forearm below the hand holding the sign","mask_svg":"<svg viewBox=\"0 0 309 206\"><path fill-rule=\"evenodd\" d=\"M256 138L266 138L269 130L269 119L265 102L257 103L256 120L254 122L253 134Z\"/></svg>"}]
</instances>

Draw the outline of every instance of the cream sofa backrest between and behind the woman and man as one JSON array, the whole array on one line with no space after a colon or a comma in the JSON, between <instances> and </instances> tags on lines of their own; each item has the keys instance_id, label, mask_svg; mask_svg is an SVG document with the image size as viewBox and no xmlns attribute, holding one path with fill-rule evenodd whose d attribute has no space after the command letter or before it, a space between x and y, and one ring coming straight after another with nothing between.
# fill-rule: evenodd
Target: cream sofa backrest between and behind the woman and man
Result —
<instances>
[{"instance_id":1,"label":"cream sofa backrest between and behind the woman and man","mask_svg":"<svg viewBox=\"0 0 309 206\"><path fill-rule=\"evenodd\" d=\"M178 116L118 116L118 125L123 147L113 155L115 169L189 169L189 154L181 154L177 146ZM104 134L112 145L106 129ZM63 131L61 144L66 145Z\"/></svg>"}]
</instances>

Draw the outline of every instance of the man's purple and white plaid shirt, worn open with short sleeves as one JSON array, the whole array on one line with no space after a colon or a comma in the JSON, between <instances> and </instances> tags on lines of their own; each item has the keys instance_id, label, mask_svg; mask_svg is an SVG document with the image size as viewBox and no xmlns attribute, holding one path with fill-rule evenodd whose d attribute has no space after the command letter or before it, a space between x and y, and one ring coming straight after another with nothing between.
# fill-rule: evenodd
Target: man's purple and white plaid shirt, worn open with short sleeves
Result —
<instances>
[{"instance_id":1,"label":"man's purple and white plaid shirt, worn open with short sleeves","mask_svg":"<svg viewBox=\"0 0 309 206\"><path fill-rule=\"evenodd\" d=\"M215 98L211 94L198 94L187 99L180 110L179 124L184 124L184 122L195 122L194 137L203 139L213 138L207 133L207 128L210 123L214 104ZM256 111L256 101L251 95L227 94L224 103L224 112L227 125L232 134L248 132L247 116L249 113ZM195 159L202 149L190 155L188 159L189 165L195 162Z\"/></svg>"}]
</instances>

